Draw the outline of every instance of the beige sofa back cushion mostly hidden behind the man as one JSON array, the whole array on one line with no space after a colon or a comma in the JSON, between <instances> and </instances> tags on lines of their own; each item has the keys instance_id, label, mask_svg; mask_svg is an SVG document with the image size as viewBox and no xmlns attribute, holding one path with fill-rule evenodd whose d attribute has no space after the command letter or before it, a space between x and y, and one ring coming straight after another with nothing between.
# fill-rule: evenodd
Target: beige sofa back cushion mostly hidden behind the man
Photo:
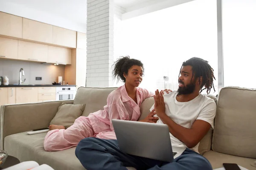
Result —
<instances>
[{"instance_id":1,"label":"beige sofa back cushion mostly hidden behind the man","mask_svg":"<svg viewBox=\"0 0 256 170\"><path fill-rule=\"evenodd\" d=\"M207 95L208 97L212 98L217 102L217 99L215 96ZM150 113L149 109L154 105L154 98L150 97L148 99L145 99L144 102L140 106L140 118L139 120L145 119L146 116ZM199 144L199 153L203 155L205 152L209 151L211 149L212 145L212 129L208 131L208 133L204 136L204 138L201 140Z\"/></svg>"}]
</instances>

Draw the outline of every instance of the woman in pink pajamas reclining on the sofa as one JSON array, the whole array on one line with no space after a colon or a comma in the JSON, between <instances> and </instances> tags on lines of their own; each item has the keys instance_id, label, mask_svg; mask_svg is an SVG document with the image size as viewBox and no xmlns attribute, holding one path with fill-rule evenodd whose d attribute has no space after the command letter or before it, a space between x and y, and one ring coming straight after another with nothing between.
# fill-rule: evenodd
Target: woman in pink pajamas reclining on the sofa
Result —
<instances>
[{"instance_id":1,"label":"woman in pink pajamas reclining on the sofa","mask_svg":"<svg viewBox=\"0 0 256 170\"><path fill-rule=\"evenodd\" d=\"M116 139L111 119L137 121L140 117L140 105L154 94L138 86L143 80L143 63L137 59L121 57L115 62L113 77L125 82L108 95L104 110L80 116L67 129L64 126L50 125L50 131L44 139L47 151L65 150L76 146L81 139L96 137ZM151 111L141 122L156 122L156 113Z\"/></svg>"}]
</instances>

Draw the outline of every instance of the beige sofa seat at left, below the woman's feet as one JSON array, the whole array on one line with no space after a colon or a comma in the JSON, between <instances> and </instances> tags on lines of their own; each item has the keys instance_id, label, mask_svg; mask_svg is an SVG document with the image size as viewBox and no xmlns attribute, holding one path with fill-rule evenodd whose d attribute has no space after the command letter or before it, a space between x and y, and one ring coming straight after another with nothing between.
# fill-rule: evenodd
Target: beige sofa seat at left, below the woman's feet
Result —
<instances>
[{"instance_id":1,"label":"beige sofa seat at left, below the woman's feet","mask_svg":"<svg viewBox=\"0 0 256 170\"><path fill-rule=\"evenodd\" d=\"M43 143L46 134L28 135L23 132L6 136L4 149L21 162L36 161L38 164L48 164L54 170L85 170L76 158L76 147L57 152L45 151Z\"/></svg>"}]
</instances>

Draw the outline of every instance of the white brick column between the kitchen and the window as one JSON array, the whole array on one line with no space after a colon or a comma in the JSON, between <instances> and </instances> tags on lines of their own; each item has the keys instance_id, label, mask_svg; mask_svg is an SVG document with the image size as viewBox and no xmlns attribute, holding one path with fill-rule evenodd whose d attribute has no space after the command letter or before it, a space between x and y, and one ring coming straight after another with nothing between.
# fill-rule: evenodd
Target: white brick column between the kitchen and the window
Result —
<instances>
[{"instance_id":1,"label":"white brick column between the kitchen and the window","mask_svg":"<svg viewBox=\"0 0 256 170\"><path fill-rule=\"evenodd\" d=\"M87 0L86 87L112 87L113 0Z\"/></svg>"}]
</instances>

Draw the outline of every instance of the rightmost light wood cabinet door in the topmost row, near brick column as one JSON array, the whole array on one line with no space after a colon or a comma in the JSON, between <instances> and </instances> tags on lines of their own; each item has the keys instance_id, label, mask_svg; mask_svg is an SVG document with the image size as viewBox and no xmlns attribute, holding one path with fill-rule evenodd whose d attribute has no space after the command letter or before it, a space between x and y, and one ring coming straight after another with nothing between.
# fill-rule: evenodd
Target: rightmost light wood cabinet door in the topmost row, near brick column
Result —
<instances>
[{"instance_id":1,"label":"rightmost light wood cabinet door in the topmost row, near brick column","mask_svg":"<svg viewBox=\"0 0 256 170\"><path fill-rule=\"evenodd\" d=\"M53 26L52 42L70 48L76 48L76 31Z\"/></svg>"}]
</instances>

